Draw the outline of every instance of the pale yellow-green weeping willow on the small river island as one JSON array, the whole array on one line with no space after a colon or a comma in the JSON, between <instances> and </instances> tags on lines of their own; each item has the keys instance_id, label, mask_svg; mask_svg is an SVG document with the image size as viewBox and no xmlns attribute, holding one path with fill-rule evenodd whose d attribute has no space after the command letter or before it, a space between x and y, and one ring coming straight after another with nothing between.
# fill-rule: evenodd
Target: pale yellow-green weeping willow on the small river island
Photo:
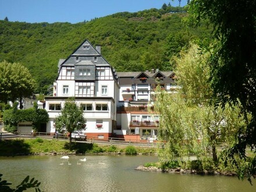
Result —
<instances>
[{"instance_id":1,"label":"pale yellow-green weeping willow on the small river island","mask_svg":"<svg viewBox=\"0 0 256 192\"><path fill-rule=\"evenodd\" d=\"M246 125L237 106L227 104L222 109L212 105L207 56L199 54L197 45L191 45L176 59L180 88L173 94L159 90L154 109L161 116L159 138L167 141L162 161L190 154L205 158L211 148L212 159L218 163L216 144L222 141L230 145L239 127Z\"/></svg>"}]
</instances>

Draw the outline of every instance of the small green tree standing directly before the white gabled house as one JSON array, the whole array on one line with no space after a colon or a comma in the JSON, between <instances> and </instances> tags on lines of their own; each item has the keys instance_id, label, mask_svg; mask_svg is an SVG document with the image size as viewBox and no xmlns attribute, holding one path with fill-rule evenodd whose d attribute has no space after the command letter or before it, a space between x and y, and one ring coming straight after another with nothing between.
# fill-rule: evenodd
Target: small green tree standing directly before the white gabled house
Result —
<instances>
[{"instance_id":1,"label":"small green tree standing directly before the white gabled house","mask_svg":"<svg viewBox=\"0 0 256 192\"><path fill-rule=\"evenodd\" d=\"M83 116L83 108L77 106L74 98L69 98L65 101L64 108L61 110L61 115L56 118L56 130L69 132L70 146L72 142L72 133L75 130L84 130L86 119Z\"/></svg>"}]
</instances>

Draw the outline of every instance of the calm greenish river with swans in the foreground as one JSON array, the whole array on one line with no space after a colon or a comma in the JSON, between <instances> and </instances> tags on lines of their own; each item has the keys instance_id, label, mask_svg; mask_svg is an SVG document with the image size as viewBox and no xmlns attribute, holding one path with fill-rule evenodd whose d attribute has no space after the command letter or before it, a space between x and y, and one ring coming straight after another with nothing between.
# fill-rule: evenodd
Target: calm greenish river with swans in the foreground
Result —
<instances>
[{"instance_id":1,"label":"calm greenish river with swans in the foreground","mask_svg":"<svg viewBox=\"0 0 256 192\"><path fill-rule=\"evenodd\" d=\"M41 182L44 191L256 191L247 180L230 176L180 175L134 170L155 156L59 155L0 157L2 179L13 186L27 176ZM86 157L87 161L80 159ZM61 165L63 163L63 165ZM34 191L29 190L29 191Z\"/></svg>"}]
</instances>

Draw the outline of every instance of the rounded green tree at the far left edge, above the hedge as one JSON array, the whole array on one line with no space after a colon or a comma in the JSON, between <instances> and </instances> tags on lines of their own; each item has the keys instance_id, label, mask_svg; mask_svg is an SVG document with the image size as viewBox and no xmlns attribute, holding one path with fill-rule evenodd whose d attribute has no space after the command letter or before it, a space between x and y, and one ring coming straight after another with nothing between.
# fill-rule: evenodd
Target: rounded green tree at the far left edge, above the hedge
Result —
<instances>
[{"instance_id":1,"label":"rounded green tree at the far left edge, above the hedge","mask_svg":"<svg viewBox=\"0 0 256 192\"><path fill-rule=\"evenodd\" d=\"M0 63L0 100L7 103L20 100L20 109L22 98L29 97L35 88L35 81L31 77L29 70L19 63Z\"/></svg>"}]
</instances>

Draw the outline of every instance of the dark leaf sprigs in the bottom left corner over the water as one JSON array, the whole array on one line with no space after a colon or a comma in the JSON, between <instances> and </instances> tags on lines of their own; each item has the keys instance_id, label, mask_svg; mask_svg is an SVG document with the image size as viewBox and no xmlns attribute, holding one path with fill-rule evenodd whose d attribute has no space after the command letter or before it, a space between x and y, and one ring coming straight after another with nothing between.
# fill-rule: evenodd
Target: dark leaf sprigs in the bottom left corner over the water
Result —
<instances>
[{"instance_id":1,"label":"dark leaf sprigs in the bottom left corner over the water","mask_svg":"<svg viewBox=\"0 0 256 192\"><path fill-rule=\"evenodd\" d=\"M22 191L26 191L27 189L30 188L35 188L35 191L41 191L39 186L41 184L41 182L38 182L38 180L35 180L34 178L32 178L31 180L29 180L29 176L27 176L22 183L20 183L15 189L10 188L10 185L12 183L8 183L6 180L2 180L3 175L0 174L0 191L5 191L5 192L9 192L9 191L16 191L16 192L22 192Z\"/></svg>"}]
</instances>

